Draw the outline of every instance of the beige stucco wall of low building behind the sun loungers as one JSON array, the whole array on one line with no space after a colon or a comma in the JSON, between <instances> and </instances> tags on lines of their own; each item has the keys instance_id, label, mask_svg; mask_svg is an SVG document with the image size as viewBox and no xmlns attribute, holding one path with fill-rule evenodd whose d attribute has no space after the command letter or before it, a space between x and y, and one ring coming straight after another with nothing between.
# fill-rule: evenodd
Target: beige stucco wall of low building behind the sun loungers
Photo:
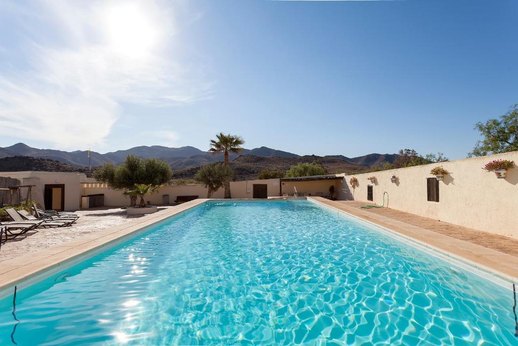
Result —
<instances>
[{"instance_id":1,"label":"beige stucco wall of low building behind the sun loungers","mask_svg":"<svg viewBox=\"0 0 518 346\"><path fill-rule=\"evenodd\" d=\"M0 176L20 179L21 185L37 185L32 188L32 198L44 205L44 191L46 184L65 185L65 210L78 210L81 198L80 182L84 174L68 172L0 172ZM27 189L22 189L22 198L25 199Z\"/></svg>"}]
</instances>

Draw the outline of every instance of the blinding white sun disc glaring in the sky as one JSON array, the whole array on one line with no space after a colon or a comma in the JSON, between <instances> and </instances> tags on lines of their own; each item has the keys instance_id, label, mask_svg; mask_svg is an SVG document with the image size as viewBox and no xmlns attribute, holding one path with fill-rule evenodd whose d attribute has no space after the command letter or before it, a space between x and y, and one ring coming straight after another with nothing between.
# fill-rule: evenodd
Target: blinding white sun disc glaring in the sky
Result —
<instances>
[{"instance_id":1,"label":"blinding white sun disc glaring in the sky","mask_svg":"<svg viewBox=\"0 0 518 346\"><path fill-rule=\"evenodd\" d=\"M158 29L141 8L123 4L105 12L107 36L110 46L128 58L142 58L156 44Z\"/></svg>"}]
</instances>

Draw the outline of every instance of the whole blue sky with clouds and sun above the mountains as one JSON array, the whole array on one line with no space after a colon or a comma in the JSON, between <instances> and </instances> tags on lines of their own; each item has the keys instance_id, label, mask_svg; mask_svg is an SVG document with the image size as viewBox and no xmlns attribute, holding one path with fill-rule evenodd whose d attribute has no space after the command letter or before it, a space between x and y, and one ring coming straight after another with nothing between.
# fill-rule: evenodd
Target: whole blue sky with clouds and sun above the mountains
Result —
<instances>
[{"instance_id":1,"label":"whole blue sky with clouds and sun above the mountains","mask_svg":"<svg viewBox=\"0 0 518 346\"><path fill-rule=\"evenodd\" d=\"M463 158L518 102L518 2L2 2L0 146ZM7 135L5 135L7 134Z\"/></svg>"}]
</instances>

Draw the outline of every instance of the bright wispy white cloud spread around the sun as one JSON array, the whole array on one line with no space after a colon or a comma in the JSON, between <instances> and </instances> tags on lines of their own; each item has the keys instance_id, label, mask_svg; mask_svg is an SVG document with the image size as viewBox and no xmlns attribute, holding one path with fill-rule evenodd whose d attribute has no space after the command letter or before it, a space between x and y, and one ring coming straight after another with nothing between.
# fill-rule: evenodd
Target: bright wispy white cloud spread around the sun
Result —
<instances>
[{"instance_id":1,"label":"bright wispy white cloud spread around the sun","mask_svg":"<svg viewBox=\"0 0 518 346\"><path fill-rule=\"evenodd\" d=\"M22 63L0 67L0 127L12 135L67 149L98 146L123 116L122 104L210 97L211 82L171 53L177 28L170 5L33 4L5 7L24 29ZM0 47L0 57L11 48Z\"/></svg>"}]
</instances>

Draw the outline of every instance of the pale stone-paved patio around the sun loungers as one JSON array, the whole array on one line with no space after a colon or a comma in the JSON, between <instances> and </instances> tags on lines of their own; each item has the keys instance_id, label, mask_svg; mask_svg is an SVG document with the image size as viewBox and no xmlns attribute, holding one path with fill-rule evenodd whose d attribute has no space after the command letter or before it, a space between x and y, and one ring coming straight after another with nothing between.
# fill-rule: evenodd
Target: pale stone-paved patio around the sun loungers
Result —
<instances>
[{"instance_id":1,"label":"pale stone-paved patio around the sun loungers","mask_svg":"<svg viewBox=\"0 0 518 346\"><path fill-rule=\"evenodd\" d=\"M159 210L170 208L161 206ZM86 234L118 226L143 215L126 215L119 207L98 207L75 212L77 222L69 227L42 228L29 231L24 236L7 241L0 247L0 262L44 250L50 246L77 239Z\"/></svg>"}]
</instances>

